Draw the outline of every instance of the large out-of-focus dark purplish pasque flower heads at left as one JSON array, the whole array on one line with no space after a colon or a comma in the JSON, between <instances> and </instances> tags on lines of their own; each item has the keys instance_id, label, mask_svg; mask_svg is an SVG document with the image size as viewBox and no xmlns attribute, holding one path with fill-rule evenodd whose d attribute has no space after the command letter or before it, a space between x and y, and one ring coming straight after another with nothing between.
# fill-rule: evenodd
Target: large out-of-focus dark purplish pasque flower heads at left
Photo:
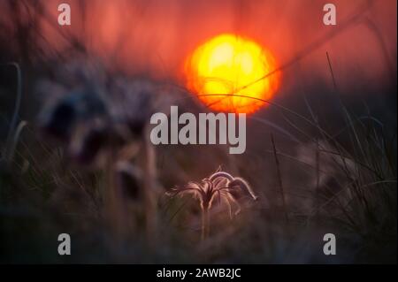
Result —
<instances>
[{"instance_id":1,"label":"large out-of-focus dark purplish pasque flower heads at left","mask_svg":"<svg viewBox=\"0 0 398 282\"><path fill-rule=\"evenodd\" d=\"M39 126L64 141L80 164L93 164L106 149L118 151L142 140L150 115L171 102L153 81L127 80L86 61L65 65L55 77L59 82L39 83L45 104Z\"/></svg>"}]
</instances>

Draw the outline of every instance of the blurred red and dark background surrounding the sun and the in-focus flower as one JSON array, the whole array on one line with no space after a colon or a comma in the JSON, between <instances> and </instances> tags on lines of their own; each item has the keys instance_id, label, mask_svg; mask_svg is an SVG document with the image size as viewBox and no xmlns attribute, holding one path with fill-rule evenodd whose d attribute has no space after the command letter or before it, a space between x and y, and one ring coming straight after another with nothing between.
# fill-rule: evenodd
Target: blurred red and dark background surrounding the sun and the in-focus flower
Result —
<instances>
[{"instance_id":1,"label":"blurred red and dark background surrounding the sun and the in-focus flower","mask_svg":"<svg viewBox=\"0 0 398 282\"><path fill-rule=\"evenodd\" d=\"M2 263L396 263L396 1L333 1L336 26L320 0L70 0L62 27L61 3L0 2ZM153 112L209 111L184 62L223 33L281 67L246 152L151 145ZM203 239L165 193L219 166L259 198L213 203Z\"/></svg>"}]
</instances>

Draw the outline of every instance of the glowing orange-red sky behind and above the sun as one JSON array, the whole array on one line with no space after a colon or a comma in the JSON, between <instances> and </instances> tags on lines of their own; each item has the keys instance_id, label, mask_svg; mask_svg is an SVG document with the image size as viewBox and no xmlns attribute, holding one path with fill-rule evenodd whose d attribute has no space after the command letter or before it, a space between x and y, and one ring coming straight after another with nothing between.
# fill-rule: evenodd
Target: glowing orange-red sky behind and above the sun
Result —
<instances>
[{"instance_id":1,"label":"glowing orange-red sky behind and above the sun","mask_svg":"<svg viewBox=\"0 0 398 282\"><path fill-rule=\"evenodd\" d=\"M365 3L364 0L328 1L336 4L338 25L326 27L322 23L322 8L328 3L325 0L89 0L85 3L84 24L79 1L42 1L55 20L57 4L65 2L72 7L72 27L57 27L55 23L57 29L84 38L88 50L109 65L130 73L144 72L175 80L183 80L181 65L188 54L214 35L234 32L248 36L266 46L284 64L310 42L339 28L341 20L356 13L357 7ZM395 70L396 1L375 0L366 16L379 28ZM46 21L42 27L50 48L65 48L59 30L49 27ZM325 65L328 51L342 84L353 78L382 80L388 67L381 50L375 33L364 24L356 25L302 60L301 76L328 77Z\"/></svg>"}]
</instances>

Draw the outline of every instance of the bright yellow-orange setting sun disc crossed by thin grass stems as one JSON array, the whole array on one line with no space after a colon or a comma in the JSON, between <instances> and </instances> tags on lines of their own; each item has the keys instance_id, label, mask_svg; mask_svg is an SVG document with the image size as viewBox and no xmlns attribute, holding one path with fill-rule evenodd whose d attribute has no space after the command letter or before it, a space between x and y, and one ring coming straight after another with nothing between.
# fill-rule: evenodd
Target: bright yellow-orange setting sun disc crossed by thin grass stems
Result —
<instances>
[{"instance_id":1,"label":"bright yellow-orange setting sun disc crossed by thin grass stems","mask_svg":"<svg viewBox=\"0 0 398 282\"><path fill-rule=\"evenodd\" d=\"M185 75L188 89L212 111L253 113L267 104L259 99L270 100L279 88L279 72L264 78L276 68L272 53L256 42L220 34L188 56Z\"/></svg>"}]
</instances>

